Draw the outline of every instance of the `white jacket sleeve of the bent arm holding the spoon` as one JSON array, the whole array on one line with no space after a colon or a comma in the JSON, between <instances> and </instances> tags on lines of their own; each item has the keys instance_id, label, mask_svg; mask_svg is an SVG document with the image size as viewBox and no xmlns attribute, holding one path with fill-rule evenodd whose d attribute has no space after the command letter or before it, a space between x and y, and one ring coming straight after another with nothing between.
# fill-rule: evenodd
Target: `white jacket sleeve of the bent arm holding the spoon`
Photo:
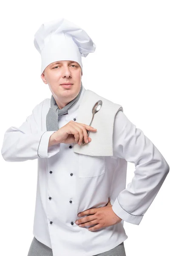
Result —
<instances>
[{"instance_id":1,"label":"white jacket sleeve of the bent arm holding the spoon","mask_svg":"<svg viewBox=\"0 0 170 256\"><path fill-rule=\"evenodd\" d=\"M19 128L11 126L5 132L1 154L7 162L49 158L59 152L60 144L48 147L50 136L55 131L41 130L43 102L35 106Z\"/></svg>"}]
</instances>

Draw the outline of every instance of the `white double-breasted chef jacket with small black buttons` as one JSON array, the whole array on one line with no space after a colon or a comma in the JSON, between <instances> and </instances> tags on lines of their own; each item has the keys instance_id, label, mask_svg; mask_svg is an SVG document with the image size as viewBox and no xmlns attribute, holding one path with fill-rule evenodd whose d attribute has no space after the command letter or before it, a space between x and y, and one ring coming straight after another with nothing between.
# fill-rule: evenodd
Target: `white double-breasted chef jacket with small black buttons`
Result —
<instances>
[{"instance_id":1,"label":"white double-breasted chef jacket with small black buttons","mask_svg":"<svg viewBox=\"0 0 170 256\"><path fill-rule=\"evenodd\" d=\"M76 121L79 101L59 116L59 128ZM50 99L38 104L19 128L8 128L1 154L8 162L38 159L37 197L33 234L51 247L53 255L92 256L111 250L127 239L123 221L137 224L156 197L169 165L141 129L118 111L113 130L113 156L89 156L73 152L74 143L48 148L55 131L46 131ZM95 117L94 117L95 118ZM89 124L87 124L89 125ZM90 134L89 134L90 136ZM135 164L126 186L127 162ZM118 224L89 231L75 221L79 212L104 207L111 198Z\"/></svg>"}]
</instances>

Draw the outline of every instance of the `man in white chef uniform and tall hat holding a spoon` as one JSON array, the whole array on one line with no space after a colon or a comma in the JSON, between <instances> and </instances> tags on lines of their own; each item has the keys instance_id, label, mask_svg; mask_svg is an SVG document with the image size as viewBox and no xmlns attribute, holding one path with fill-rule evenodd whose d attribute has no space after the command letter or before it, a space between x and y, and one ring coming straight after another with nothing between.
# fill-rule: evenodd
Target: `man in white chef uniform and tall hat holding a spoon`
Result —
<instances>
[{"instance_id":1,"label":"man in white chef uniform and tall hat holding a spoon","mask_svg":"<svg viewBox=\"0 0 170 256\"><path fill-rule=\"evenodd\" d=\"M125 256L123 222L139 225L169 165L121 105L82 85L81 57L96 48L83 29L43 23L34 45L51 99L8 128L1 149L8 162L38 160L28 256ZM136 169L126 188L127 162Z\"/></svg>"}]
</instances>

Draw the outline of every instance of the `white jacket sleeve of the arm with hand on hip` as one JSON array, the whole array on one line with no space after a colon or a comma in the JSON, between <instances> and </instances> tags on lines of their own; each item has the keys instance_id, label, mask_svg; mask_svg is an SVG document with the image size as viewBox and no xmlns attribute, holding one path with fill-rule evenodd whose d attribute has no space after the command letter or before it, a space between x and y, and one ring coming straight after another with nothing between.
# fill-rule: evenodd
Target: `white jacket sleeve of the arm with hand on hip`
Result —
<instances>
[{"instance_id":1,"label":"white jacket sleeve of the arm with hand on hip","mask_svg":"<svg viewBox=\"0 0 170 256\"><path fill-rule=\"evenodd\" d=\"M170 167L156 146L122 111L115 116L113 154L136 167L132 181L114 201L113 212L122 220L139 225Z\"/></svg>"}]
</instances>

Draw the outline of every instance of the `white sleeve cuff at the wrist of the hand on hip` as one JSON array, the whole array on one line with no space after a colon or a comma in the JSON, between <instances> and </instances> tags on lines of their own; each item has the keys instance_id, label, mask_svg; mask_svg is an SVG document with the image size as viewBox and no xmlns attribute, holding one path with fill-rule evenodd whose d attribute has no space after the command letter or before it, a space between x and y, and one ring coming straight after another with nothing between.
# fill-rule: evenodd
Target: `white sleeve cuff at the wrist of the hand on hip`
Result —
<instances>
[{"instance_id":1,"label":"white sleeve cuff at the wrist of the hand on hip","mask_svg":"<svg viewBox=\"0 0 170 256\"><path fill-rule=\"evenodd\" d=\"M114 201L112 205L113 212L116 213L116 215L121 218L124 221L127 221L132 224L139 225L139 223L142 221L142 218L144 215L133 215L127 212L125 209L122 208L122 206L119 204L118 198Z\"/></svg>"}]
</instances>

